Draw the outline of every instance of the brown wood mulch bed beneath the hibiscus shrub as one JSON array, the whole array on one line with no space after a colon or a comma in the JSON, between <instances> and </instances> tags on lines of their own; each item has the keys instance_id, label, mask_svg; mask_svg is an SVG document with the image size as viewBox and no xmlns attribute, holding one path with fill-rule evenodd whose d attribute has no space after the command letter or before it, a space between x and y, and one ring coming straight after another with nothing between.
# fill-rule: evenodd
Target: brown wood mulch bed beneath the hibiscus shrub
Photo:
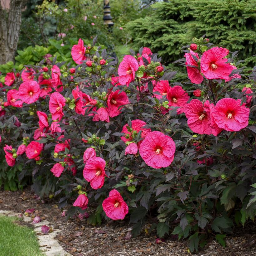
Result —
<instances>
[{"instance_id":1,"label":"brown wood mulch bed beneath the hibiscus shrub","mask_svg":"<svg viewBox=\"0 0 256 256\"><path fill-rule=\"evenodd\" d=\"M38 200L29 188L17 192L0 191L1 210L24 213L31 208L35 208L35 215L48 220L54 229L61 230L56 239L72 255L191 255L187 252L187 240L178 241L171 236L164 243L156 244L156 234L147 235L144 230L139 237L130 238L132 226L128 221L109 221L92 226L87 224L86 219L66 220L61 216L57 201ZM236 228L234 234L227 235L226 244L223 248L213 240L197 255L255 256L256 224L248 222L244 228Z\"/></svg>"}]
</instances>

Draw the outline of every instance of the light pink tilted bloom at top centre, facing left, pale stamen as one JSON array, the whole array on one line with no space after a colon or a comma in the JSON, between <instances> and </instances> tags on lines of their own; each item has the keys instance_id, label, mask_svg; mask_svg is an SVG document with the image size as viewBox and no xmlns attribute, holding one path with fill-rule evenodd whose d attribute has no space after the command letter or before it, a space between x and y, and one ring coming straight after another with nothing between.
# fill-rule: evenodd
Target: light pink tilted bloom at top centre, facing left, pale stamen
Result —
<instances>
[{"instance_id":1,"label":"light pink tilted bloom at top centre, facing left, pale stamen","mask_svg":"<svg viewBox=\"0 0 256 256\"><path fill-rule=\"evenodd\" d=\"M138 61L131 55L125 55L118 67L119 83L128 86L134 81L138 68Z\"/></svg>"}]
</instances>

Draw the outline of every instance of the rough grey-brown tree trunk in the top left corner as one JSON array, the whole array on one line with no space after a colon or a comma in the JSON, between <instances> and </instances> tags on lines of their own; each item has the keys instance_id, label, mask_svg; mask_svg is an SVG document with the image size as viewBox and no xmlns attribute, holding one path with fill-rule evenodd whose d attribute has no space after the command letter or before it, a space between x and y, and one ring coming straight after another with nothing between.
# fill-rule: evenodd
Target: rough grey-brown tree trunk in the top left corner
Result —
<instances>
[{"instance_id":1,"label":"rough grey-brown tree trunk in the top left corner","mask_svg":"<svg viewBox=\"0 0 256 256\"><path fill-rule=\"evenodd\" d=\"M27 0L11 0L4 10L0 3L0 64L14 60L21 25L22 9Z\"/></svg>"}]
</instances>

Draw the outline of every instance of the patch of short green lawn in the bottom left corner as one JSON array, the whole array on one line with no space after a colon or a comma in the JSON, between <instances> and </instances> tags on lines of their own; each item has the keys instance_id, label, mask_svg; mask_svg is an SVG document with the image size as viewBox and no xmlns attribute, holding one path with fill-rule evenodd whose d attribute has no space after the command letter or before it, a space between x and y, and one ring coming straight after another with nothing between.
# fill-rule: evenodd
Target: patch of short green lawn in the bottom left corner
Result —
<instances>
[{"instance_id":1,"label":"patch of short green lawn in the bottom left corner","mask_svg":"<svg viewBox=\"0 0 256 256\"><path fill-rule=\"evenodd\" d=\"M0 216L0 256L44 256L33 229L19 226L15 220Z\"/></svg>"}]
</instances>

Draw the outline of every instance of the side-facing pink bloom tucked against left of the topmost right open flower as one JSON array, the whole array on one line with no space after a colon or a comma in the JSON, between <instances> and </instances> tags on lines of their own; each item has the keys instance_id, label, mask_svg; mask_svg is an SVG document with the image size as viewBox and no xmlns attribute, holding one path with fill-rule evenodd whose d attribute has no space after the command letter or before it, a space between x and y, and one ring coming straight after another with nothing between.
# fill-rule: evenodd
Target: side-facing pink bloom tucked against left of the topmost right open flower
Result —
<instances>
[{"instance_id":1,"label":"side-facing pink bloom tucked against left of the topmost right open flower","mask_svg":"<svg viewBox=\"0 0 256 256\"><path fill-rule=\"evenodd\" d=\"M191 80L192 83L198 85L204 80L204 77L200 74L197 61L193 58L192 55L196 56L196 59L199 59L198 54L194 51L190 50L190 53L185 53L186 68L187 68L188 78ZM195 67L191 67L188 65L195 66Z\"/></svg>"}]
</instances>

